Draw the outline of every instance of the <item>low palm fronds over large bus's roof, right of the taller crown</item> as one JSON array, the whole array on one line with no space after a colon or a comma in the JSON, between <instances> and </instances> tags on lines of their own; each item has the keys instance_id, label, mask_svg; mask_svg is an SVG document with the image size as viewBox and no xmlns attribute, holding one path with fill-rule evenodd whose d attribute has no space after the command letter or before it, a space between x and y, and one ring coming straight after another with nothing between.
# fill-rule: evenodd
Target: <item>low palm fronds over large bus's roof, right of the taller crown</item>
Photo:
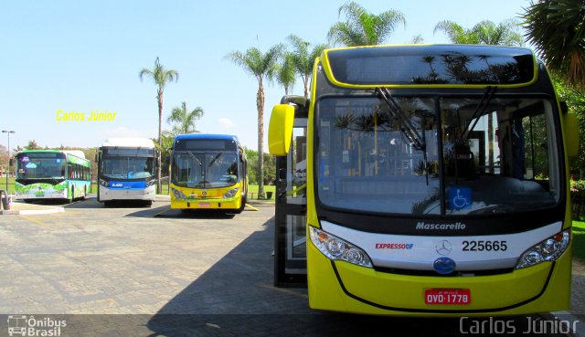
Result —
<instances>
[{"instance_id":1,"label":"low palm fronds over large bus's roof, right of the taller crown","mask_svg":"<svg viewBox=\"0 0 585 337\"><path fill-rule=\"evenodd\" d=\"M490 20L484 20L471 29L463 28L453 21L443 20L435 26L434 33L442 31L452 43L462 45L523 46L524 39L520 27L520 22L516 19L504 20L497 26Z\"/></svg>"}]
</instances>

